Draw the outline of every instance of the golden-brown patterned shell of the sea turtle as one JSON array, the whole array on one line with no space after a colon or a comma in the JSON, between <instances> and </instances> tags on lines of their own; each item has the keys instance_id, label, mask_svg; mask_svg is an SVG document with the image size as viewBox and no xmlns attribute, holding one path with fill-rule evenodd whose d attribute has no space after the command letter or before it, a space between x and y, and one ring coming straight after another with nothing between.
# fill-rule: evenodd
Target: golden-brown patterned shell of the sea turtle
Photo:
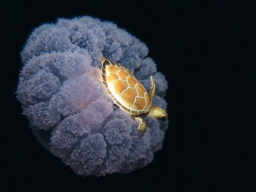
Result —
<instances>
[{"instance_id":1,"label":"golden-brown patterned shell of the sea turtle","mask_svg":"<svg viewBox=\"0 0 256 192\"><path fill-rule=\"evenodd\" d=\"M124 66L102 59L102 82L113 95L115 103L134 116L148 113L153 103L141 82Z\"/></svg>"}]
</instances>

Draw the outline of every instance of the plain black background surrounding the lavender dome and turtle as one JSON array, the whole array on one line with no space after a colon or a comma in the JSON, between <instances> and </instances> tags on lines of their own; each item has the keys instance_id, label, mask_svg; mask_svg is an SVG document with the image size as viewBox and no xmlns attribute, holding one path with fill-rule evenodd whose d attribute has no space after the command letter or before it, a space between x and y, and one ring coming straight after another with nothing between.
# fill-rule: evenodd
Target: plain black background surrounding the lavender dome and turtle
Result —
<instances>
[{"instance_id":1,"label":"plain black background surrounding the lavender dome and turtle","mask_svg":"<svg viewBox=\"0 0 256 192\"><path fill-rule=\"evenodd\" d=\"M171 2L1 3L2 188L253 191L255 149L249 136L254 137L255 115L249 112L255 99L255 5L245 0ZM36 142L15 99L19 52L32 30L81 15L112 21L145 42L169 82L170 123L163 148L150 165L132 173L77 176Z\"/></svg>"}]
</instances>

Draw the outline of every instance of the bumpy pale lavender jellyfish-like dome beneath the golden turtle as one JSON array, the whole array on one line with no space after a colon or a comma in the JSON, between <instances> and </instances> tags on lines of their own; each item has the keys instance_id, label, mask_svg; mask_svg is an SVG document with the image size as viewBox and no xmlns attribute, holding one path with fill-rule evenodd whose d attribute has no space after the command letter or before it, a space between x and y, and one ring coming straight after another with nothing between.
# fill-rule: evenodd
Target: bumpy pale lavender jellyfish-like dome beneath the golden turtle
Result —
<instances>
[{"instance_id":1,"label":"bumpy pale lavender jellyfish-like dome beneath the golden turtle","mask_svg":"<svg viewBox=\"0 0 256 192\"><path fill-rule=\"evenodd\" d=\"M128 173L162 148L168 121L144 117L147 129L114 104L101 82L102 55L127 67L166 110L168 84L144 43L90 16L58 19L29 36L21 52L17 98L37 140L81 176Z\"/></svg>"}]
</instances>

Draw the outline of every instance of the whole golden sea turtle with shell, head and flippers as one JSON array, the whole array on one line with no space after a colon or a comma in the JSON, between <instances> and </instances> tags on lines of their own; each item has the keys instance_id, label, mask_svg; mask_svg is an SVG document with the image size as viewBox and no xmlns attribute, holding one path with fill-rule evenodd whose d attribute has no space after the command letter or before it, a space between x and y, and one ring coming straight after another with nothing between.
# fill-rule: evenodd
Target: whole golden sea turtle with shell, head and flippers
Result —
<instances>
[{"instance_id":1,"label":"whole golden sea turtle with shell, head and flippers","mask_svg":"<svg viewBox=\"0 0 256 192\"><path fill-rule=\"evenodd\" d=\"M140 132L144 133L146 130L146 122L142 116L149 115L164 121L167 120L167 112L152 103L156 93L156 84L152 76L152 87L147 93L141 82L126 67L106 59L104 56L100 59L100 63L102 63L103 85L106 86L110 95L114 97L115 103L122 110L131 114L132 118L140 120Z\"/></svg>"}]
</instances>

